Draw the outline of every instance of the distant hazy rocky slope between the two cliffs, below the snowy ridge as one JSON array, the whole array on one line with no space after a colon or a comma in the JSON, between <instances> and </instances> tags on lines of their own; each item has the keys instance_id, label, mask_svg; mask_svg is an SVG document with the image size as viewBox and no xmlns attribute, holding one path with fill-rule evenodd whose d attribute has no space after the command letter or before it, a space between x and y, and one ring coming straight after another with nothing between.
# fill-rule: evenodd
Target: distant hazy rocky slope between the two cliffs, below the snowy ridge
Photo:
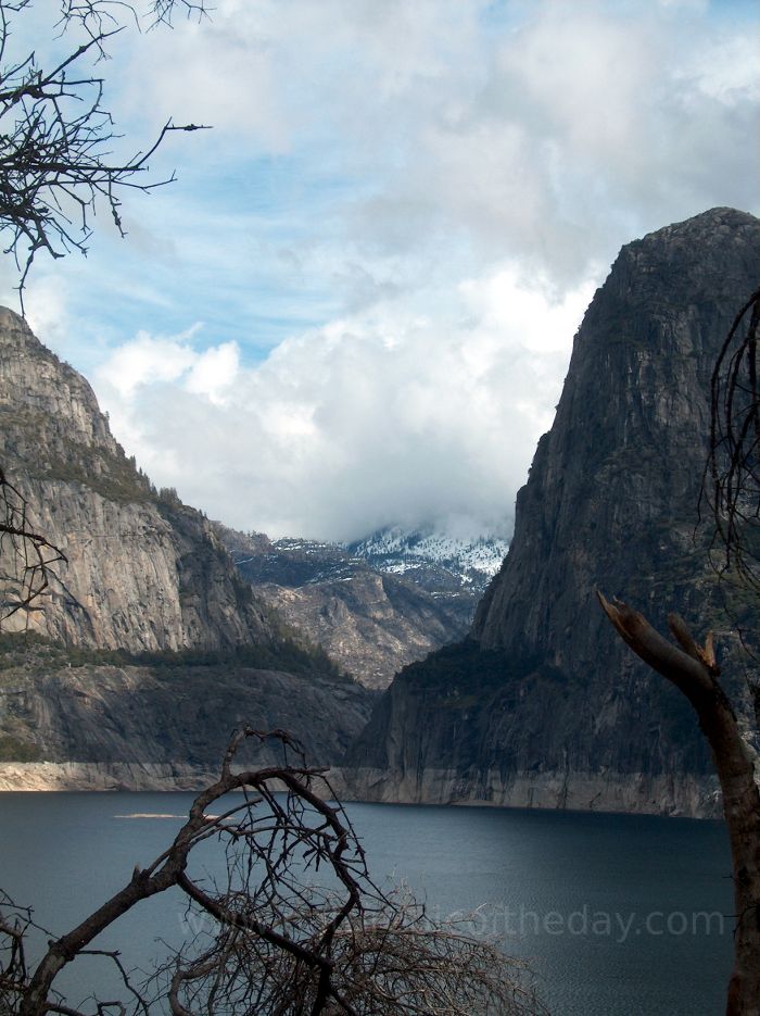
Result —
<instances>
[{"instance_id":1,"label":"distant hazy rocky slope between the two cliffs, below the snowy ridge","mask_svg":"<svg viewBox=\"0 0 760 1016\"><path fill-rule=\"evenodd\" d=\"M385 575L334 543L245 536L215 524L255 595L367 688L461 638L474 599Z\"/></svg>"}]
</instances>

